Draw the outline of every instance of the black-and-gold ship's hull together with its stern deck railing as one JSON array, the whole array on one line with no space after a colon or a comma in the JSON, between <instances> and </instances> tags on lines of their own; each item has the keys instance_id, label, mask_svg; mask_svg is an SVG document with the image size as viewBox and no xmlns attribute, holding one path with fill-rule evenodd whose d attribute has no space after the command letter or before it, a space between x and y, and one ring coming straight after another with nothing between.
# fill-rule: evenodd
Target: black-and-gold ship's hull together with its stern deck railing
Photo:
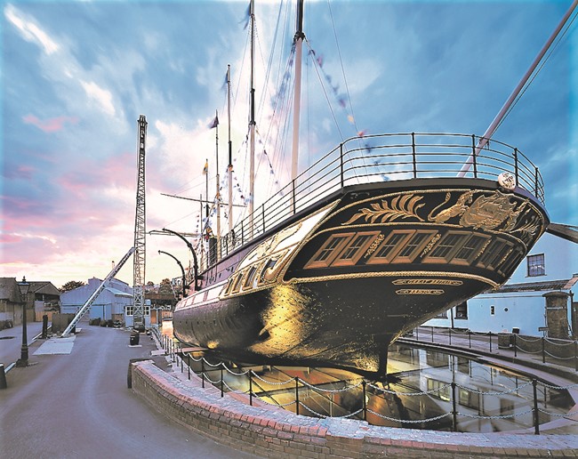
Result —
<instances>
[{"instance_id":1,"label":"black-and-gold ship's hull together with its stern deck railing","mask_svg":"<svg viewBox=\"0 0 578 459\"><path fill-rule=\"evenodd\" d=\"M496 124L341 141L209 239L175 337L237 364L385 380L391 342L502 286L549 227L539 169Z\"/></svg>"}]
</instances>

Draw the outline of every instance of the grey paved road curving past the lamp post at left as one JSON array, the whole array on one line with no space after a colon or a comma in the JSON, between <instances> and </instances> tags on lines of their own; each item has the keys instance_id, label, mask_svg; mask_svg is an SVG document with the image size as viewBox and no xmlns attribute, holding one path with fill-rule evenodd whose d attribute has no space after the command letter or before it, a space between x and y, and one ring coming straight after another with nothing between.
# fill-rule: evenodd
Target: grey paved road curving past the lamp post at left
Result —
<instances>
[{"instance_id":1,"label":"grey paved road curving past the lamp post at left","mask_svg":"<svg viewBox=\"0 0 578 459\"><path fill-rule=\"evenodd\" d=\"M68 355L34 356L0 391L0 456L27 458L254 457L168 421L126 386L130 358L156 349L141 334L83 326Z\"/></svg>"}]
</instances>

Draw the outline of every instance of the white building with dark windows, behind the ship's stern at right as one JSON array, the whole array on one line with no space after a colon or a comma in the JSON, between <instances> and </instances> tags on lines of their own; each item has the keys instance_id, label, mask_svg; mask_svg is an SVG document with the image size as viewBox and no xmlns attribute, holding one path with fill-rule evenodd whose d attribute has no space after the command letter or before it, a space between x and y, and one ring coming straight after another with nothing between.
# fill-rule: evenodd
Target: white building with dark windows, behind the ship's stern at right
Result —
<instances>
[{"instance_id":1,"label":"white building with dark windows, behind the ship's stern at right","mask_svg":"<svg viewBox=\"0 0 578 459\"><path fill-rule=\"evenodd\" d=\"M427 321L424 326L473 332L519 332L569 338L578 334L578 245L546 233L508 283Z\"/></svg>"}]
</instances>

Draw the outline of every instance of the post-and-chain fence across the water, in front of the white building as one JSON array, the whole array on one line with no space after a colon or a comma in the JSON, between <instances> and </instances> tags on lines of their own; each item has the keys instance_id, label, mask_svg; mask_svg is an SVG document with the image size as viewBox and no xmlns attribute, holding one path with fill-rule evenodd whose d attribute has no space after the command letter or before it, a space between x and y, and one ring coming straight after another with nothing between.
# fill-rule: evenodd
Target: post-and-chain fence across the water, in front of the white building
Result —
<instances>
[{"instance_id":1,"label":"post-and-chain fence across the water, in front of the white building","mask_svg":"<svg viewBox=\"0 0 578 459\"><path fill-rule=\"evenodd\" d=\"M498 349L511 349L515 358L518 357L518 353L538 355L542 358L542 363L549 361L551 363L574 366L574 371L578 372L578 341L575 340L560 340L545 336L524 336L515 333L478 333L470 330L438 328L435 326L421 326L413 329L415 341L447 343L451 346L452 340L454 340L455 344L456 340L463 342L467 339L470 349L472 347L472 337L478 349L480 345L482 348L487 346L487 350L490 352Z\"/></svg>"}]
</instances>

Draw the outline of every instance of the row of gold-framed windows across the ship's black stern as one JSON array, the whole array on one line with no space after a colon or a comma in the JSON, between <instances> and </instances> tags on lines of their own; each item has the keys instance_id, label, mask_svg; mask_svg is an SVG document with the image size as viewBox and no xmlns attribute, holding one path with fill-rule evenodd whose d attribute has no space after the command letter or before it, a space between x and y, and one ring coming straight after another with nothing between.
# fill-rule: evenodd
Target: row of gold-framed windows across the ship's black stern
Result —
<instances>
[{"instance_id":1,"label":"row of gold-framed windows across the ship's black stern","mask_svg":"<svg viewBox=\"0 0 578 459\"><path fill-rule=\"evenodd\" d=\"M387 235L360 231L332 234L305 269L421 262L476 266L506 274L523 256L508 240L471 231L395 229Z\"/></svg>"}]
</instances>

